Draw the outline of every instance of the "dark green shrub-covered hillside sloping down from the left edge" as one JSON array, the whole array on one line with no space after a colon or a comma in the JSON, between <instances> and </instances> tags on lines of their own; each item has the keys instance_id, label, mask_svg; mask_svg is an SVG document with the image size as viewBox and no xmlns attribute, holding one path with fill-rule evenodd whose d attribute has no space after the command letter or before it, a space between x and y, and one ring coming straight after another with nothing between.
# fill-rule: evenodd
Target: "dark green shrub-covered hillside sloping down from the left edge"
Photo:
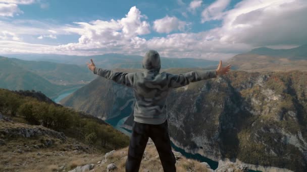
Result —
<instances>
[{"instance_id":1,"label":"dark green shrub-covered hillside sloping down from the left edge","mask_svg":"<svg viewBox=\"0 0 307 172\"><path fill-rule=\"evenodd\" d=\"M63 132L66 136L89 146L95 145L102 150L126 147L129 142L128 136L101 119L54 102L43 102L30 95L26 97L6 89L0 89L0 113L14 121L42 125ZM93 137L93 140L88 140L89 137Z\"/></svg>"}]
</instances>

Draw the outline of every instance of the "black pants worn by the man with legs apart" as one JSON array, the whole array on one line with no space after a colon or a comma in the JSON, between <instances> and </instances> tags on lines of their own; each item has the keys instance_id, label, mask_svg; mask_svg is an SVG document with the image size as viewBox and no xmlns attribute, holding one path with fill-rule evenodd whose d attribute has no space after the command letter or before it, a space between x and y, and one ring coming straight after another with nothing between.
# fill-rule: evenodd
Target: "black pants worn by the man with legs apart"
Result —
<instances>
[{"instance_id":1,"label":"black pants worn by the man with legs apart","mask_svg":"<svg viewBox=\"0 0 307 172\"><path fill-rule=\"evenodd\" d=\"M126 172L137 172L139 170L148 137L156 145L163 170L166 172L176 171L176 158L172 152L166 120L163 124L159 125L134 122L128 149L128 158L126 160Z\"/></svg>"}]
</instances>

